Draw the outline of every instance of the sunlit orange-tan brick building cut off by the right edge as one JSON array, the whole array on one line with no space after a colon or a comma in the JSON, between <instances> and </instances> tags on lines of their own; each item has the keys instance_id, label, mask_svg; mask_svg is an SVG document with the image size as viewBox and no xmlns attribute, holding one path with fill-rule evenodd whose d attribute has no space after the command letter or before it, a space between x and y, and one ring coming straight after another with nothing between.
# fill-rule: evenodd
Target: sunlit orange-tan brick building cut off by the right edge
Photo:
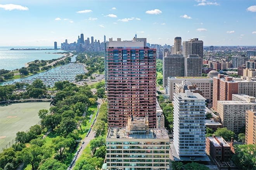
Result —
<instances>
[{"instance_id":1,"label":"sunlit orange-tan brick building cut off by the right edge","mask_svg":"<svg viewBox=\"0 0 256 170\"><path fill-rule=\"evenodd\" d=\"M246 111L246 144L256 145L256 110Z\"/></svg>"}]
</instances>

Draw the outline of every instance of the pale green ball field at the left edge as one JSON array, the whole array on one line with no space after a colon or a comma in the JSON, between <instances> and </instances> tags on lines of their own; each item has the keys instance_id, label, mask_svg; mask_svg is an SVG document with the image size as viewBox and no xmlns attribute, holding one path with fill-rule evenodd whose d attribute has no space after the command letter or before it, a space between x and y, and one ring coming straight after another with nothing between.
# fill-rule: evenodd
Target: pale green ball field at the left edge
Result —
<instances>
[{"instance_id":1,"label":"pale green ball field at the left edge","mask_svg":"<svg viewBox=\"0 0 256 170\"><path fill-rule=\"evenodd\" d=\"M0 152L12 145L18 131L26 131L40 121L38 111L49 109L50 102L16 103L0 105ZM15 142L15 141L14 141Z\"/></svg>"}]
</instances>

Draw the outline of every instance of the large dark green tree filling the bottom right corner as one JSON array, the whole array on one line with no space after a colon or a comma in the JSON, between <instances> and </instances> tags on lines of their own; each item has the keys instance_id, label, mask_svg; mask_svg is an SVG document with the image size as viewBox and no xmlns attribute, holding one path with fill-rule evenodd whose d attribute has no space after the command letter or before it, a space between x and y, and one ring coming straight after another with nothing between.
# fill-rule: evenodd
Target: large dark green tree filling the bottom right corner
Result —
<instances>
[{"instance_id":1,"label":"large dark green tree filling the bottom right corner","mask_svg":"<svg viewBox=\"0 0 256 170\"><path fill-rule=\"evenodd\" d=\"M234 149L235 155L233 155L232 160L237 164L239 169L256 169L256 145L234 145Z\"/></svg>"}]
</instances>

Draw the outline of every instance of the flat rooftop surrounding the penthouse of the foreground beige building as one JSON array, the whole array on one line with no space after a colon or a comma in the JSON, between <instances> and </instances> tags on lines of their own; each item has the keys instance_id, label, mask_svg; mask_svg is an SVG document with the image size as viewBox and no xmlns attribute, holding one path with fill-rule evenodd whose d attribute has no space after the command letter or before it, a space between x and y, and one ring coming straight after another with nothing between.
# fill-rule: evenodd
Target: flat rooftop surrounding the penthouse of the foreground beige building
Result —
<instances>
[{"instance_id":1,"label":"flat rooftop surrounding the penthouse of the foreground beige building","mask_svg":"<svg viewBox=\"0 0 256 170\"><path fill-rule=\"evenodd\" d=\"M146 134L129 134L126 128L110 127L107 139L169 139L169 136L164 128L149 129Z\"/></svg>"}]
</instances>

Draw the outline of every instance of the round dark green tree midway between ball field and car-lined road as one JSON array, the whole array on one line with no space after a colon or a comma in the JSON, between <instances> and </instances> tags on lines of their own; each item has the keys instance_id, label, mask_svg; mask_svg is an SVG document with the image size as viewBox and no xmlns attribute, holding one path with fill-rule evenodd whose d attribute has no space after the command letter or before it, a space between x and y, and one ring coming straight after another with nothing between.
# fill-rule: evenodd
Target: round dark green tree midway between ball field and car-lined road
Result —
<instances>
[{"instance_id":1,"label":"round dark green tree midway between ball field and car-lined road","mask_svg":"<svg viewBox=\"0 0 256 170\"><path fill-rule=\"evenodd\" d=\"M65 136L71 133L74 129L76 129L77 123L73 118L64 117L61 121L59 129L61 130L62 134Z\"/></svg>"}]
</instances>

